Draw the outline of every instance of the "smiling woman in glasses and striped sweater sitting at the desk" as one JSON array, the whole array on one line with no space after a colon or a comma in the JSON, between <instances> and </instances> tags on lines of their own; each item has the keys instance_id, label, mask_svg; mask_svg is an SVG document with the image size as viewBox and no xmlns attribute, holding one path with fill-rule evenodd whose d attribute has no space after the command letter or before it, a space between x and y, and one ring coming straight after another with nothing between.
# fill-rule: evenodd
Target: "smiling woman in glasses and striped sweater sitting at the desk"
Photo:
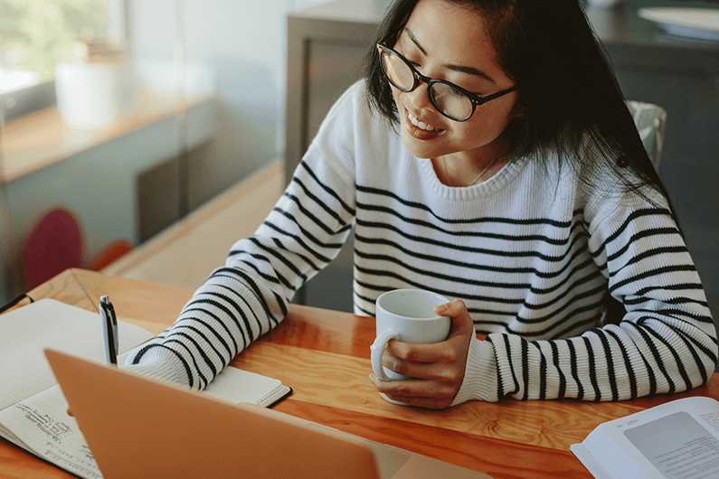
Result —
<instances>
[{"instance_id":1,"label":"smiling woman in glasses and striped sweater sitting at the desk","mask_svg":"<svg viewBox=\"0 0 719 479\"><path fill-rule=\"evenodd\" d=\"M437 310L446 342L388 344L383 364L418 378L371 375L390 399L703 384L717 343L701 282L577 2L400 0L376 40L267 221L128 364L203 388L354 226L356 314L397 287L458 298Z\"/></svg>"}]
</instances>

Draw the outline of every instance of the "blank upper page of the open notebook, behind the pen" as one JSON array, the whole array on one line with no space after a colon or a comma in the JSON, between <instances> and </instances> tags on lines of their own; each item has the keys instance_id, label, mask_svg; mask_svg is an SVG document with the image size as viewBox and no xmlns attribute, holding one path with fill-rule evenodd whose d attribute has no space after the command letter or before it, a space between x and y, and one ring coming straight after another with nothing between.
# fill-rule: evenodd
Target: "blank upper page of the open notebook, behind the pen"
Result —
<instances>
[{"instance_id":1,"label":"blank upper page of the open notebook, behind the pen","mask_svg":"<svg viewBox=\"0 0 719 479\"><path fill-rule=\"evenodd\" d=\"M119 352L152 339L152 333L118 321ZM99 314L41 299L0 315L0 410L56 384L43 349L104 362Z\"/></svg>"}]
</instances>

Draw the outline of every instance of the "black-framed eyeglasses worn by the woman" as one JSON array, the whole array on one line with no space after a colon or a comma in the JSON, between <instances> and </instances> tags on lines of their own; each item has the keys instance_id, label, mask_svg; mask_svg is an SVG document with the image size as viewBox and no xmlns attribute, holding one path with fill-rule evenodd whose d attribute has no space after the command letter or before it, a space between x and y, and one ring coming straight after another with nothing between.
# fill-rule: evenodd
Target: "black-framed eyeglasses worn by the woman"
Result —
<instances>
[{"instance_id":1,"label":"black-framed eyeglasses worn by the woman","mask_svg":"<svg viewBox=\"0 0 719 479\"><path fill-rule=\"evenodd\" d=\"M516 86L514 86L488 97L480 97L449 81L432 80L430 77L425 77L401 53L395 52L389 47L377 43L377 48L380 51L382 70L394 88L410 92L419 87L421 82L427 83L427 95L434 108L437 108L437 111L445 117L455 121L467 121L472 117L478 105L484 105L487 101L498 99L510 91L516 90Z\"/></svg>"}]
</instances>

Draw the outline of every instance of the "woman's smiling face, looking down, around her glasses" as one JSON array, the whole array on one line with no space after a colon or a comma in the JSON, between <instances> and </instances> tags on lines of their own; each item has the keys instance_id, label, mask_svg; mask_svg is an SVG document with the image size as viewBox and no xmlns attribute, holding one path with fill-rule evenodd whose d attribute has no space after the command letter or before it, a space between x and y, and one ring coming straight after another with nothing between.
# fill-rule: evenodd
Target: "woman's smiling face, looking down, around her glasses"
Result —
<instances>
[{"instance_id":1,"label":"woman's smiling face, looking down, around her glasses","mask_svg":"<svg viewBox=\"0 0 719 479\"><path fill-rule=\"evenodd\" d=\"M444 0L420 0L393 45L423 75L448 80L480 96L509 89L515 81L499 66L481 14ZM509 121L519 116L516 91L480 105L467 121L444 117L421 83L411 92L393 90L402 142L419 158L468 155L491 159Z\"/></svg>"}]
</instances>

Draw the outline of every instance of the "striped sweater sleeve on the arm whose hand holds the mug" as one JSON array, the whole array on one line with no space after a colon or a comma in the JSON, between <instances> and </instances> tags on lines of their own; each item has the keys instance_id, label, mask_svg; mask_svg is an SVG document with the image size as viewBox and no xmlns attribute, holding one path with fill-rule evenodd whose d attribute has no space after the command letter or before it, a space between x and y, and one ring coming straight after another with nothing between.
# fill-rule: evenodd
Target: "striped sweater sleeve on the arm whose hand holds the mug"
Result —
<instances>
[{"instance_id":1,"label":"striped sweater sleeve on the arm whose hand holds the mug","mask_svg":"<svg viewBox=\"0 0 719 479\"><path fill-rule=\"evenodd\" d=\"M608 280L608 295L625 313L577 337L527 341L489 334L486 341L493 348L470 350L475 363L494 355L497 390L490 394L490 384L479 388L488 400L636 399L690 390L714 372L714 322L667 208L638 206L625 198L604 205L586 229L591 257ZM479 399L478 393L473 397Z\"/></svg>"}]
</instances>

